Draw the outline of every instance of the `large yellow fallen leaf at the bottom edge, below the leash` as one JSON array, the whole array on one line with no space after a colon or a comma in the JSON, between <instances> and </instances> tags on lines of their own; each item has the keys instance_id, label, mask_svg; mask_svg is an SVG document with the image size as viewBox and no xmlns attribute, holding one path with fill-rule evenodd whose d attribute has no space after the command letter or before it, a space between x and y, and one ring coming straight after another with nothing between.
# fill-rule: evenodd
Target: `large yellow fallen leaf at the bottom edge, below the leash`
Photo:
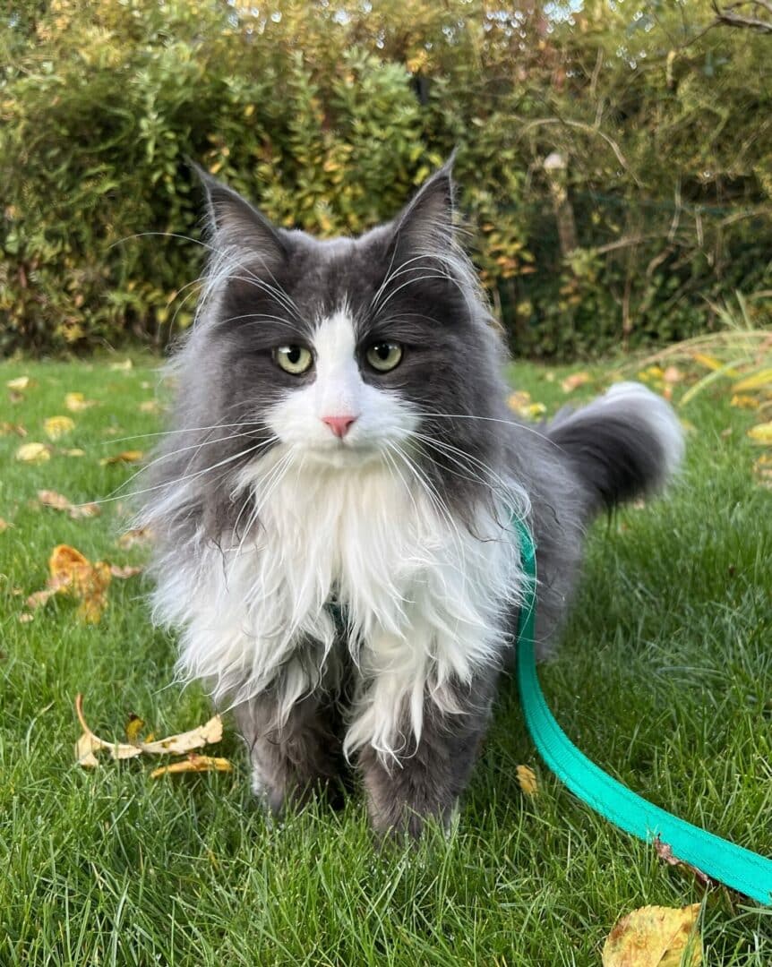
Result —
<instances>
[{"instance_id":1,"label":"large yellow fallen leaf at the bottom edge, below the leash","mask_svg":"<svg viewBox=\"0 0 772 967\"><path fill-rule=\"evenodd\" d=\"M698 967L702 963L699 906L647 906L622 917L604 946L603 967Z\"/></svg>"}]
</instances>

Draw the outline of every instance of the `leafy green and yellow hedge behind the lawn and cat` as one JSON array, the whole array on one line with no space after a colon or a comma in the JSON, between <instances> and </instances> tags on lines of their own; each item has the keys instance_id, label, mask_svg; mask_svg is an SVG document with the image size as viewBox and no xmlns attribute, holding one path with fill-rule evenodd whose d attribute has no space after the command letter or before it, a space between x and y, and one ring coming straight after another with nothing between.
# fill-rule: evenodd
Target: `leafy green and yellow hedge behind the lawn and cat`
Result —
<instances>
[{"instance_id":1,"label":"leafy green and yellow hedge behind the lawn and cat","mask_svg":"<svg viewBox=\"0 0 772 967\"><path fill-rule=\"evenodd\" d=\"M455 146L475 260L518 353L689 337L736 298L767 324L772 37L714 14L708 0L14 3L0 349L160 346L190 324L203 249L188 159L272 219L332 235L392 217Z\"/></svg>"}]
</instances>

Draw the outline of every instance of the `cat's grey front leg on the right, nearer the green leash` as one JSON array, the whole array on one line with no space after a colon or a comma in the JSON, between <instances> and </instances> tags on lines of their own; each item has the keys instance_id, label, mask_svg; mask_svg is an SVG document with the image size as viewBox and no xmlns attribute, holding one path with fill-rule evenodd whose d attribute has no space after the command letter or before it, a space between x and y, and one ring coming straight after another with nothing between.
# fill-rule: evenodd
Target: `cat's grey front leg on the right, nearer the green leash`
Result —
<instances>
[{"instance_id":1,"label":"cat's grey front leg on the right, nearer the green leash","mask_svg":"<svg viewBox=\"0 0 772 967\"><path fill-rule=\"evenodd\" d=\"M420 738L409 739L404 750L389 755L362 748L358 764L377 833L418 837L429 818L447 826L488 727L495 677L490 669L469 686L446 687L453 690L452 711L428 693Z\"/></svg>"}]
</instances>

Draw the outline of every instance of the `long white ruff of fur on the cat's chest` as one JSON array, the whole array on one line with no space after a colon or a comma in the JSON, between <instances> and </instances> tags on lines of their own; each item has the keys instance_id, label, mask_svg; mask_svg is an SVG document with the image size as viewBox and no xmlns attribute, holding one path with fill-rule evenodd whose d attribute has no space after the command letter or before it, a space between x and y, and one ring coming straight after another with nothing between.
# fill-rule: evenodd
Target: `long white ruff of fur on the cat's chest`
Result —
<instances>
[{"instance_id":1,"label":"long white ruff of fur on the cat's chest","mask_svg":"<svg viewBox=\"0 0 772 967\"><path fill-rule=\"evenodd\" d=\"M505 611L520 599L508 522L526 498L513 484L472 534L410 483L396 457L334 468L283 446L243 471L259 522L242 520L218 548L197 543L188 564L179 550L160 562L156 612L182 627L180 678L203 680L221 704L270 687L281 724L338 664L335 600L359 679L346 754L370 745L399 759L421 736L425 700L459 711L449 684L499 660Z\"/></svg>"}]
</instances>

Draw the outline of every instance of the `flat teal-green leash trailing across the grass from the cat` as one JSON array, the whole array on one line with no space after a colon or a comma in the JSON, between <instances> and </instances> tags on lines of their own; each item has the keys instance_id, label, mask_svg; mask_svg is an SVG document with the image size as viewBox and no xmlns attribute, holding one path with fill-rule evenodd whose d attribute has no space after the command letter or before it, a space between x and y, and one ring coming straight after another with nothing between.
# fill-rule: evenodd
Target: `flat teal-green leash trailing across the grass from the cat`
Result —
<instances>
[{"instance_id":1,"label":"flat teal-green leash trailing across the grass from the cat","mask_svg":"<svg viewBox=\"0 0 772 967\"><path fill-rule=\"evenodd\" d=\"M659 838L668 844L678 860L696 866L738 893L772 905L772 860L647 803L591 762L557 724L536 674L536 550L528 528L520 520L513 523L520 538L523 569L530 583L527 600L520 608L518 629L520 701L528 731L549 769L580 800L615 826L644 842Z\"/></svg>"}]
</instances>

